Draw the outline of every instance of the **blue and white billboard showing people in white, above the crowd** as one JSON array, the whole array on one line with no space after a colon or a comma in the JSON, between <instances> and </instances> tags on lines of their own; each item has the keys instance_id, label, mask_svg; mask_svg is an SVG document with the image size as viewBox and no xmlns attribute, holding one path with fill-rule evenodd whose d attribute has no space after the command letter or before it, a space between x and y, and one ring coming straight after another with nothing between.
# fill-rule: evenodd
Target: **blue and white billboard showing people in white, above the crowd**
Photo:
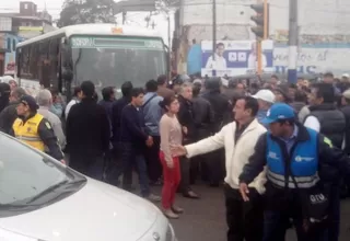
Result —
<instances>
[{"instance_id":1,"label":"blue and white billboard showing people in white, above the crowd","mask_svg":"<svg viewBox=\"0 0 350 241\"><path fill-rule=\"evenodd\" d=\"M212 42L201 42L201 76L240 76L257 72L255 41L219 41L213 57ZM261 66L264 72L273 71L273 42L262 42Z\"/></svg>"}]
</instances>

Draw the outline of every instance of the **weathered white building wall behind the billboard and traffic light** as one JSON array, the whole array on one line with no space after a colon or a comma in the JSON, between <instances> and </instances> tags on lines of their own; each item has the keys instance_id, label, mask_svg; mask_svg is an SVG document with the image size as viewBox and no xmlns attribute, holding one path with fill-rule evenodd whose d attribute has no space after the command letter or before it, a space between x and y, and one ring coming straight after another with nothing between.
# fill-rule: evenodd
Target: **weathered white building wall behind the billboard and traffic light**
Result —
<instances>
[{"instance_id":1,"label":"weathered white building wall behind the billboard and traffic light","mask_svg":"<svg viewBox=\"0 0 350 241\"><path fill-rule=\"evenodd\" d=\"M268 0L270 3L269 38L273 41L273 66L285 72L288 66L289 0ZM217 0L217 39L248 41L254 14L250 4L257 0ZM299 1L299 71L317 73L328 70L337 74L349 72L350 58L350 1ZM200 61L199 55L189 56L191 48L199 48L202 41L212 41L212 1L183 0L175 18L177 72L198 72L191 62ZM196 51L198 53L198 51ZM200 65L198 65L200 66ZM191 72L188 72L190 69Z\"/></svg>"}]
</instances>

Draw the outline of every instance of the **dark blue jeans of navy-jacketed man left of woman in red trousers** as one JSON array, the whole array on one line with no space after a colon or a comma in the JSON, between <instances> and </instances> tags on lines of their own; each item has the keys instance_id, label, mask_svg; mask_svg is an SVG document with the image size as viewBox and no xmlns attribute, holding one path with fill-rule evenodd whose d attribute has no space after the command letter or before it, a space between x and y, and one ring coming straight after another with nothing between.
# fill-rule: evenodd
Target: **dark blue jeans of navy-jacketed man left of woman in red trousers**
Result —
<instances>
[{"instance_id":1,"label":"dark blue jeans of navy-jacketed man left of woman in red trousers","mask_svg":"<svg viewBox=\"0 0 350 241\"><path fill-rule=\"evenodd\" d=\"M121 170L117 173L117 179L124 174L122 188L130 191L132 182L132 169L136 168L139 174L139 184L141 195L147 197L150 195L150 183L147 172L145 159L143 153L136 149L132 144L121 144Z\"/></svg>"}]
</instances>

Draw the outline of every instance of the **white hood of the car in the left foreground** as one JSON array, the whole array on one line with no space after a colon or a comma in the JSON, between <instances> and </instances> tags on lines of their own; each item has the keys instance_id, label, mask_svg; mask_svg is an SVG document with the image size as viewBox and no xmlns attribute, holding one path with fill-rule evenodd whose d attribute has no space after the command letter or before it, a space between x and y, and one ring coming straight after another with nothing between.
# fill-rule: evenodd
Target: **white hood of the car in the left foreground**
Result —
<instances>
[{"instance_id":1,"label":"white hood of the car in the left foreground","mask_svg":"<svg viewBox=\"0 0 350 241\"><path fill-rule=\"evenodd\" d=\"M84 187L58 203L0 218L0 228L44 241L135 241L159 214L141 197L88 179Z\"/></svg>"}]
</instances>

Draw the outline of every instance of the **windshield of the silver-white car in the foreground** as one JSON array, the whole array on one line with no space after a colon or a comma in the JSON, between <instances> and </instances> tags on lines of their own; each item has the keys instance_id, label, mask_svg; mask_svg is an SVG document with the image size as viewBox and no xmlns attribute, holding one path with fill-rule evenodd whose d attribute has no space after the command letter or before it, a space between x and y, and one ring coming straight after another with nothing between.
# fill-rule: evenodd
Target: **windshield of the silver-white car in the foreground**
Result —
<instances>
[{"instance_id":1,"label":"windshield of the silver-white car in the foreground","mask_svg":"<svg viewBox=\"0 0 350 241\"><path fill-rule=\"evenodd\" d=\"M49 195L47 191L77 183L78 180L80 184L86 182L83 175L7 135L0 134L0 207L25 206L34 200L35 204L43 204L44 199L48 204L60 193ZM80 188L75 187L69 192ZM63 198L65 195L61 196Z\"/></svg>"}]
</instances>

